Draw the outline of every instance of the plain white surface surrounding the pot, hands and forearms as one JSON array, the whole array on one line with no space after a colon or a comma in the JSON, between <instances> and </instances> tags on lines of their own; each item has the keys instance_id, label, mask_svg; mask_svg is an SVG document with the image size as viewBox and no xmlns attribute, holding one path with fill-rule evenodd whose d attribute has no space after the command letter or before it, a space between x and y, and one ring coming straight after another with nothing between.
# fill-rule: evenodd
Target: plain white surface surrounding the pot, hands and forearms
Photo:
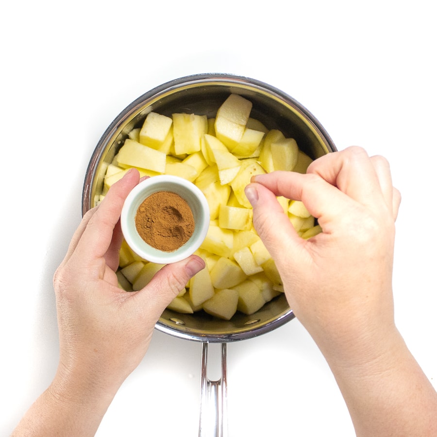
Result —
<instances>
[{"instance_id":1,"label":"plain white surface surrounding the pot, hands and forearms","mask_svg":"<svg viewBox=\"0 0 437 437\"><path fill-rule=\"evenodd\" d=\"M338 149L390 161L396 319L434 385L436 26L431 1L8 2L0 37L2 264L0 435L49 384L58 341L51 279L81 218L91 153L136 97L227 72L300 101ZM297 320L228 348L235 436L351 436L330 371ZM201 345L159 332L98 436L197 435Z\"/></svg>"}]
</instances>

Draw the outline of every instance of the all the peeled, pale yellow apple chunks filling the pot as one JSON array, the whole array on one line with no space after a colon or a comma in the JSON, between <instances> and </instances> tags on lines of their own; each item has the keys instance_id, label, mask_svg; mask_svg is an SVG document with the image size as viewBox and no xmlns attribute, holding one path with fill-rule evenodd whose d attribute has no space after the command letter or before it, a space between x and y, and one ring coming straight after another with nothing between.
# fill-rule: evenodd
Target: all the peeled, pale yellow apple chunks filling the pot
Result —
<instances>
[{"instance_id":1,"label":"all the peeled, pale yellow apple chunks filling the pot","mask_svg":"<svg viewBox=\"0 0 437 437\"><path fill-rule=\"evenodd\" d=\"M312 159L293 138L251 117L252 103L230 94L209 118L203 114L150 112L135 126L106 167L100 200L131 167L141 176L180 176L205 195L210 212L207 235L196 254L201 270L168 305L171 311L204 312L229 320L253 314L284 292L276 265L253 227L244 189L257 174L275 170L305 173ZM321 232L301 201L278 196L284 214L302 238ZM118 286L139 291L162 264L136 255L123 240Z\"/></svg>"}]
</instances>

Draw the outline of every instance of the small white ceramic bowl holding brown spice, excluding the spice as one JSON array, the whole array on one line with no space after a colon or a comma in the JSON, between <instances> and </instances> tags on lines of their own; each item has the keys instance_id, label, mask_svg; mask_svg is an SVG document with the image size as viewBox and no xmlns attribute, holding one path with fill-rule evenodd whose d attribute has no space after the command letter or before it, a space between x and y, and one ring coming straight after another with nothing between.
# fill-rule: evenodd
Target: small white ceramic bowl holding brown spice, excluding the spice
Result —
<instances>
[{"instance_id":1,"label":"small white ceramic bowl holding brown spice, excluding the spice","mask_svg":"<svg viewBox=\"0 0 437 437\"><path fill-rule=\"evenodd\" d=\"M194 232L188 241L172 252L156 249L146 243L135 226L135 215L142 202L153 193L170 191L181 196L190 207L194 218ZM159 175L148 178L134 187L124 202L120 223L129 247L141 258L158 264L181 261L196 252L205 239L209 227L209 206L202 191L186 179Z\"/></svg>"}]
</instances>

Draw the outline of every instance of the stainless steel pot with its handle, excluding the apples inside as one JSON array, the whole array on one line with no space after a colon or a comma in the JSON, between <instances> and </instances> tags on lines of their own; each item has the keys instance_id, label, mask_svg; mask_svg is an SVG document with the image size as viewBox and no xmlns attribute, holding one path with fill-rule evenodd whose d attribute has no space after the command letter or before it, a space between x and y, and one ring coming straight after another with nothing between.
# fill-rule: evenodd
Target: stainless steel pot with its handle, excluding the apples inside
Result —
<instances>
[{"instance_id":1,"label":"stainless steel pot with its handle, excluding the apples inside","mask_svg":"<svg viewBox=\"0 0 437 437\"><path fill-rule=\"evenodd\" d=\"M252 101L251 116L269 129L279 129L296 139L299 148L316 159L336 147L319 121L300 103L268 84L229 74L197 74L162 84L127 106L110 124L95 148L86 170L82 213L95 206L103 187L107 165L122 146L127 134L142 125L146 115L155 111L171 116L175 112L215 116L219 105L230 93ZM201 409L199 436L224 437L226 420L226 344L265 334L294 318L285 295L265 304L256 313L236 314L231 320L204 314L179 314L166 309L156 329L186 340L202 342ZM207 376L208 343L221 343L221 377Z\"/></svg>"}]
</instances>

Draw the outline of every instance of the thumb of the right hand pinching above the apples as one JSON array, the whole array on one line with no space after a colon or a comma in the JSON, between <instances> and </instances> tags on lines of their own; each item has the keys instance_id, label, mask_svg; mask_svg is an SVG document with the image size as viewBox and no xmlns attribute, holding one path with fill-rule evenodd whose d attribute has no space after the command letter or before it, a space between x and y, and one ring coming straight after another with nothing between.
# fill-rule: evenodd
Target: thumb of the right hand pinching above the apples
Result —
<instances>
[{"instance_id":1,"label":"thumb of the right hand pinching above the apples","mask_svg":"<svg viewBox=\"0 0 437 437\"><path fill-rule=\"evenodd\" d=\"M292 250L301 238L294 229L276 195L264 185L251 183L246 186L246 197L253 208L253 226L273 259L283 258L284 250Z\"/></svg>"}]
</instances>

